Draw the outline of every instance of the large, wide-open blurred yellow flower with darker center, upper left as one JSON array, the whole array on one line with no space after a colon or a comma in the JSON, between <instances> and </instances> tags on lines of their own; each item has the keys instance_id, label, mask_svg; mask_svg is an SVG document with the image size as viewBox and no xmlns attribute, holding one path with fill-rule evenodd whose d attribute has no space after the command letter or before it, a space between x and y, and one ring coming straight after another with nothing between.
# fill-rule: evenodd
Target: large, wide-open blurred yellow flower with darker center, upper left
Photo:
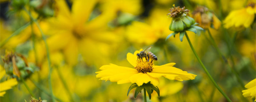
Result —
<instances>
[{"instance_id":1,"label":"large, wide-open blurred yellow flower with darker center, upper left","mask_svg":"<svg viewBox=\"0 0 256 102\"><path fill-rule=\"evenodd\" d=\"M88 65L107 62L113 46L120 40L106 31L108 16L90 18L97 3L97 0L75 0L69 10L65 0L56 0L56 17L50 19L52 27L48 32L52 36L47 42L50 50L62 50L70 65L77 63L78 54Z\"/></svg>"}]
</instances>

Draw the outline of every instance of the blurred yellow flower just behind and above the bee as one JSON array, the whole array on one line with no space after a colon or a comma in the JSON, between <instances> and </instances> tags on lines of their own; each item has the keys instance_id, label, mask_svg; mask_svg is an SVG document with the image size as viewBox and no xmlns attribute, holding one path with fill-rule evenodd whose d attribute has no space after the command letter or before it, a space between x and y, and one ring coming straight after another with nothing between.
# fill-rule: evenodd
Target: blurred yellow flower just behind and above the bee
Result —
<instances>
[{"instance_id":1,"label":"blurred yellow flower just behind and above the bee","mask_svg":"<svg viewBox=\"0 0 256 102\"><path fill-rule=\"evenodd\" d=\"M166 10L154 9L145 22L133 21L131 25L127 26L127 39L132 43L142 45L150 45L158 39L164 39L172 33L167 29L172 21L172 19L166 17L167 13Z\"/></svg>"}]
</instances>

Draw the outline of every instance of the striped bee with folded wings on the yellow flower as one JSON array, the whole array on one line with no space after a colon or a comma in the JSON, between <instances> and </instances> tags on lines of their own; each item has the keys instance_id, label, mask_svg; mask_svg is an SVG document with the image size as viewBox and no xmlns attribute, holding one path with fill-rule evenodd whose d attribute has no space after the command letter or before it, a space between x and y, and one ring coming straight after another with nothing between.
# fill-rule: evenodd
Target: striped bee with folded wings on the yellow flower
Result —
<instances>
[{"instance_id":1,"label":"striped bee with folded wings on the yellow flower","mask_svg":"<svg viewBox=\"0 0 256 102\"><path fill-rule=\"evenodd\" d=\"M154 61L157 61L156 55L150 52L149 51L150 49L151 49L151 46L146 48L144 51L140 51L140 53L137 53L137 59L140 59L140 58L142 59L143 57L145 57L146 61L149 61L149 58Z\"/></svg>"}]
</instances>

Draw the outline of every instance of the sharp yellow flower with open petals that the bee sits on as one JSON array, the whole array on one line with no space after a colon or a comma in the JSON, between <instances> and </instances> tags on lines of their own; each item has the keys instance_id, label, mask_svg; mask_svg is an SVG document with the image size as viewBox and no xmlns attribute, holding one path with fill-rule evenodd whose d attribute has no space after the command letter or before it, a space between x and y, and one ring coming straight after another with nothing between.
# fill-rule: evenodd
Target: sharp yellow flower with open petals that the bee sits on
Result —
<instances>
[{"instance_id":1,"label":"sharp yellow flower with open petals that the bee sits on","mask_svg":"<svg viewBox=\"0 0 256 102\"><path fill-rule=\"evenodd\" d=\"M96 77L100 80L110 80L110 82L117 82L117 84L136 83L141 86L143 83L150 82L157 86L159 84L159 77L166 77L170 80L193 80L196 75L190 74L187 71L173 67L175 63L167 63L161 66L154 65L154 61L146 61L137 59L137 53L142 51L135 51L134 54L127 54L127 61L132 64L134 68L117 66L115 64L104 65L100 67L101 71L97 73Z\"/></svg>"}]
</instances>

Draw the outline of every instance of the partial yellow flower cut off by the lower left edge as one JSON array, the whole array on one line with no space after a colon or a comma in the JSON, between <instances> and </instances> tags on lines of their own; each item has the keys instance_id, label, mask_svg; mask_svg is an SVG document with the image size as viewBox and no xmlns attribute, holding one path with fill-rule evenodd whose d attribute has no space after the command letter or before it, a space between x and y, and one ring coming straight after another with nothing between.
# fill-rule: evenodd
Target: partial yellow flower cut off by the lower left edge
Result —
<instances>
[{"instance_id":1,"label":"partial yellow flower cut off by the lower left edge","mask_svg":"<svg viewBox=\"0 0 256 102\"><path fill-rule=\"evenodd\" d=\"M2 79L5 76L5 70L4 68L0 65L0 79ZM15 86L18 84L17 80L15 78L8 79L4 82L0 83L0 96L3 97L4 94L6 93L6 90L9 90L12 88L12 86Z\"/></svg>"}]
</instances>

